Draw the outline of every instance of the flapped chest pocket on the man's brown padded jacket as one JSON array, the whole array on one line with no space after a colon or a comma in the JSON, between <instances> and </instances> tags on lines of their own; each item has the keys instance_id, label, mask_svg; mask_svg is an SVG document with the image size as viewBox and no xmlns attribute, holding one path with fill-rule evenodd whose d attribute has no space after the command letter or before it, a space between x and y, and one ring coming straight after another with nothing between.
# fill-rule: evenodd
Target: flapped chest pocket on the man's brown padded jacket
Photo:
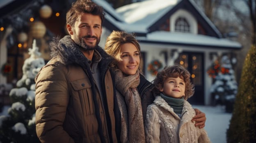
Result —
<instances>
[{"instance_id":1,"label":"flapped chest pocket on the man's brown padded jacket","mask_svg":"<svg viewBox=\"0 0 256 143\"><path fill-rule=\"evenodd\" d=\"M94 114L94 102L91 91L91 83L88 78L83 78L71 82L74 89L73 102L74 106L82 107L83 114Z\"/></svg>"}]
</instances>

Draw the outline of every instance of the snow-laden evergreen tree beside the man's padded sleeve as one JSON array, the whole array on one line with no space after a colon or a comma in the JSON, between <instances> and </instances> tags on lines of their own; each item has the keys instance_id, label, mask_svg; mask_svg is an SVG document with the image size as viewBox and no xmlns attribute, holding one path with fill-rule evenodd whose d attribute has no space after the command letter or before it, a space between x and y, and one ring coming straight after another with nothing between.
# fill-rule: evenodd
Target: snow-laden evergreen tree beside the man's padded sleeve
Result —
<instances>
[{"instance_id":1,"label":"snow-laden evergreen tree beside the man's padded sleeve","mask_svg":"<svg viewBox=\"0 0 256 143\"><path fill-rule=\"evenodd\" d=\"M2 143L39 143L35 130L34 78L45 63L38 50L34 40L29 49L30 57L22 67L23 76L16 83L17 88L11 89L9 93L12 105L8 109L8 115L0 116Z\"/></svg>"}]
</instances>

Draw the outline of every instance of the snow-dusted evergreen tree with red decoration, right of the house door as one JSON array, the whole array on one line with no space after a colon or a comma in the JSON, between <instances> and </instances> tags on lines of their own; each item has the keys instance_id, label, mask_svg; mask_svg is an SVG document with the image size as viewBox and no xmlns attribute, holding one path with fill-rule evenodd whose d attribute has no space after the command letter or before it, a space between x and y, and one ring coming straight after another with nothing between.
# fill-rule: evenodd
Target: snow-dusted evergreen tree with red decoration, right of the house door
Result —
<instances>
[{"instance_id":1,"label":"snow-dusted evergreen tree with red decoration, right of the house door","mask_svg":"<svg viewBox=\"0 0 256 143\"><path fill-rule=\"evenodd\" d=\"M215 104L226 105L226 112L232 112L238 86L228 56L222 56L221 65L217 71L219 72L210 92L215 98Z\"/></svg>"}]
</instances>

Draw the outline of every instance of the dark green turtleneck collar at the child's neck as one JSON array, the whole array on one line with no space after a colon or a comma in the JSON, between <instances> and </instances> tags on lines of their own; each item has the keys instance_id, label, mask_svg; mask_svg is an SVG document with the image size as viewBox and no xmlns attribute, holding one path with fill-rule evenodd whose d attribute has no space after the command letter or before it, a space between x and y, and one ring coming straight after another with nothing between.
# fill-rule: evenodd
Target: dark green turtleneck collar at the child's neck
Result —
<instances>
[{"instance_id":1,"label":"dark green turtleneck collar at the child's neck","mask_svg":"<svg viewBox=\"0 0 256 143\"><path fill-rule=\"evenodd\" d=\"M160 96L165 99L165 101L170 105L176 114L181 114L183 104L184 104L184 98L172 98L169 96L166 96L163 93L160 93Z\"/></svg>"}]
</instances>

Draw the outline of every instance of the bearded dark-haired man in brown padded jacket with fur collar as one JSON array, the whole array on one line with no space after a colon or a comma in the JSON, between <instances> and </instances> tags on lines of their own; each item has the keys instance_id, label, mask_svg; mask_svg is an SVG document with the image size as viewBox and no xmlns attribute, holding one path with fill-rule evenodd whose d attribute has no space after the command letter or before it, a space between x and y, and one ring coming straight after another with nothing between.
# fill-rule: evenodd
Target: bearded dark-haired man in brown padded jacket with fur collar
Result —
<instances>
[{"instance_id":1,"label":"bearded dark-haired man in brown padded jacket with fur collar","mask_svg":"<svg viewBox=\"0 0 256 143\"><path fill-rule=\"evenodd\" d=\"M66 14L70 36L50 43L53 58L35 78L42 143L117 142L112 58L98 47L104 16L102 7L78 0Z\"/></svg>"}]
</instances>

